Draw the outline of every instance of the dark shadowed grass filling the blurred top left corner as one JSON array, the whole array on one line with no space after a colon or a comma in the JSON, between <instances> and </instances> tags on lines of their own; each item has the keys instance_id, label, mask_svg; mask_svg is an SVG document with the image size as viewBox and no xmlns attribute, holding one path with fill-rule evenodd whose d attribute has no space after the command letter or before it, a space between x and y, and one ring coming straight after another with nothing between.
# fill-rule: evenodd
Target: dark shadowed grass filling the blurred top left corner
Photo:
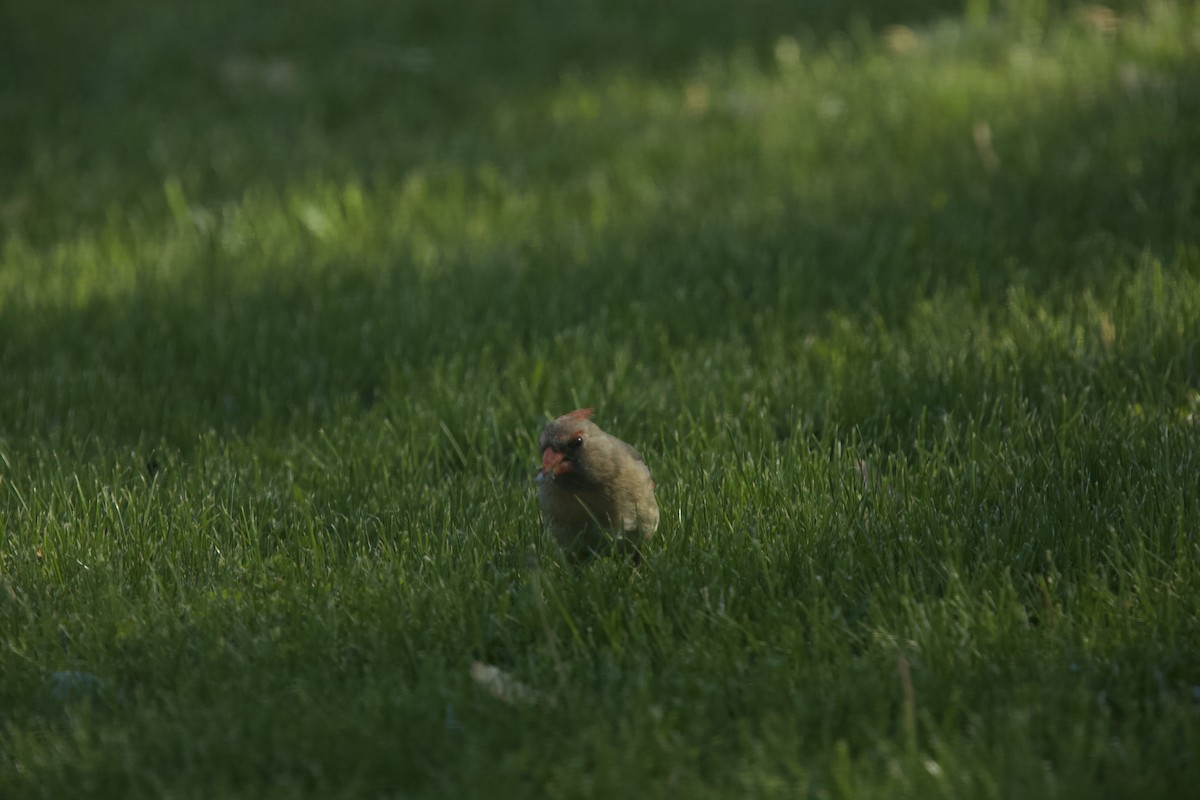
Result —
<instances>
[{"instance_id":1,"label":"dark shadowed grass filling the blurred top left corner","mask_svg":"<svg viewBox=\"0 0 1200 800\"><path fill-rule=\"evenodd\" d=\"M204 204L300 176L386 185L487 157L498 109L571 76L673 78L734 50L769 60L785 35L823 46L960 6L25 4L0 25L0 225L41 243L112 213L161 221L172 176Z\"/></svg>"}]
</instances>

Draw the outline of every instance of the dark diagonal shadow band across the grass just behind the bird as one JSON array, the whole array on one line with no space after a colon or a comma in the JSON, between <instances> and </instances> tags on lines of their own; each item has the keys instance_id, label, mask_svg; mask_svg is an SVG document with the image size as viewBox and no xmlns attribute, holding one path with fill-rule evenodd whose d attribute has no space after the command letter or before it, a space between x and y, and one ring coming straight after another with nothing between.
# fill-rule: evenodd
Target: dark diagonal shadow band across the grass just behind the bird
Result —
<instances>
[{"instance_id":1,"label":"dark diagonal shadow band across the grass just behind the bird","mask_svg":"<svg viewBox=\"0 0 1200 800\"><path fill-rule=\"evenodd\" d=\"M442 12L422 13L431 14L430 30L449 24ZM649 30L674 30L668 14L659 13ZM830 26L845 23L829 14ZM582 35L587 18L572 19ZM756 24L757 41L769 43L763 37L775 35L776 23ZM629 64L653 68L658 59L677 65L692 58L697 50L684 47L680 31L661 49L652 36L649 53L630 55ZM718 44L701 38L696 48ZM486 55L472 68L511 56L504 48L515 46L496 44L503 55ZM605 58L602 50L590 58ZM562 68L566 52L550 58L551 72ZM191 74L188 64L184 58L181 74ZM200 246L199 261L178 284L79 308L6 314L5 434L14 441L94 437L187 449L208 429L319 425L340 405L370 408L389 392L412 391L436 403L430 381L452 375L456 391L500 385L515 380L504 365L529 374L572 342L584 354L636 354L648 342L702 353L731 339L752 351L764 314L775 335L800 339L821 335L830 312L902 326L914 303L938 289L970 293L979 306L997 309L1014 285L1048 295L1082 291L1109 281L1114 265L1147 253L1169 260L1182 243L1200 241L1200 70L1189 71L1151 89L1114 85L1079 109L1027 116L1020 133L1038 157L1018 155L992 174L968 134L931 130L918 152L907 154L913 168L889 173L888 191L859 187L820 200L802 188L784 191L780 206L758 216L731 215L720 203L662 207L588 240L582 255L575 243L551 239L533 257L517 243L419 275L408 254L397 252L300 276L284 264L265 271L269 284L232 291L224 278L239 264L223 260L215 245ZM532 79L522 76L509 76L506 91L527 90ZM161 102L169 107L169 100ZM114 109L126 107L113 101ZM152 116L169 116L166 107L156 108ZM1130 115L1146 122L1130 125ZM443 156L454 157L452 140ZM328 261L314 245L311 252L305 242L298 247L296 261ZM550 264L562 266L548 271ZM1136 367L1172 363L1195 383L1196 345L1182 331L1176 339L1152 354L1162 363ZM481 354L491 372L480 368ZM994 389L911 386L907 405L916 416L926 405L970 404L964 391ZM862 423L866 414L846 408L840 422Z\"/></svg>"}]
</instances>

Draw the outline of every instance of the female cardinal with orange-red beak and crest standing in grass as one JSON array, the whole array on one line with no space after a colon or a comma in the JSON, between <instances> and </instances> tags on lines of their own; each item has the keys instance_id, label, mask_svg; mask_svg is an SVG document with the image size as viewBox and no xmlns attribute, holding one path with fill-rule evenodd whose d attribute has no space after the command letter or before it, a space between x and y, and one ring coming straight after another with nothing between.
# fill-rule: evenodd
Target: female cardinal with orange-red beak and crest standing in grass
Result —
<instances>
[{"instance_id":1,"label":"female cardinal with orange-red beak and crest standing in grass","mask_svg":"<svg viewBox=\"0 0 1200 800\"><path fill-rule=\"evenodd\" d=\"M638 546L659 527L650 469L630 445L596 427L592 414L564 414L541 432L541 516L572 560L618 549L637 564Z\"/></svg>"}]
</instances>

